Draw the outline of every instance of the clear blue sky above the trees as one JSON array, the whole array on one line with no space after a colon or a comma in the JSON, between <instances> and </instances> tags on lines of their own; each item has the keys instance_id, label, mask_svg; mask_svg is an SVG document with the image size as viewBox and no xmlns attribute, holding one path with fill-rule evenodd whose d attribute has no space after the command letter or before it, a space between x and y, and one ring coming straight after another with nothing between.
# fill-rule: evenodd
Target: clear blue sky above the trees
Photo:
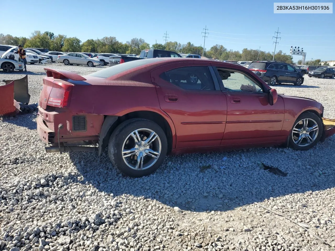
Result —
<instances>
[{"instance_id":1,"label":"clear blue sky above the trees","mask_svg":"<svg viewBox=\"0 0 335 251\"><path fill-rule=\"evenodd\" d=\"M1 25L0 33L29 37L34 30L48 30L81 41L115 36L123 43L141 37L152 45L156 40L164 43L167 31L169 41L203 45L201 31L207 25L207 49L221 44L228 50L261 47L273 52L272 36L279 27L276 51L289 54L290 46L300 46L307 52L306 60L335 60L334 14L274 14L273 2L279 0L26 0L21 1L25 18L19 18L16 5L2 1L1 13L12 17L6 22L10 25ZM301 56L293 57L298 59Z\"/></svg>"}]
</instances>

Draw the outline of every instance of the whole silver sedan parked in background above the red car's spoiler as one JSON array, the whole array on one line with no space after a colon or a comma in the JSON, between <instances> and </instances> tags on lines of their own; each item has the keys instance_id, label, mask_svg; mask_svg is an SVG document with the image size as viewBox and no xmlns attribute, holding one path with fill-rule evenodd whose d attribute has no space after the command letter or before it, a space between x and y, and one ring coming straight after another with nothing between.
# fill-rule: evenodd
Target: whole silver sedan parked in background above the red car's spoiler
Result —
<instances>
[{"instance_id":1,"label":"whole silver sedan parked in background above the red car's spoiler","mask_svg":"<svg viewBox=\"0 0 335 251\"><path fill-rule=\"evenodd\" d=\"M89 67L103 65L97 59L90 58L82 53L67 53L64 55L58 55L57 61L64 65L87 65Z\"/></svg>"}]
</instances>

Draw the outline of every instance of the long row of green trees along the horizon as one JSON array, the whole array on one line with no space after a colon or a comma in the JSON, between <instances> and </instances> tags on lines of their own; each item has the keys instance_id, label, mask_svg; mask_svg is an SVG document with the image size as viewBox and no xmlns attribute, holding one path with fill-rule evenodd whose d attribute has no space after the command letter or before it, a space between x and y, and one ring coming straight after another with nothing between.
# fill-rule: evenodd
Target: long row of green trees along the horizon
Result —
<instances>
[{"instance_id":1,"label":"long row of green trees along the horizon","mask_svg":"<svg viewBox=\"0 0 335 251\"><path fill-rule=\"evenodd\" d=\"M177 41L168 41L165 45L149 45L143 38L132 38L126 43L122 43L115 36L105 36L100 39L87 39L82 42L77 37L67 37L63 34L55 35L53 32L41 32L36 30L31 33L29 38L17 37L10 34L0 34L0 44L22 45L23 48L47 48L50 51L59 52L91 52L91 53L122 53L139 55L145 49L161 49L185 54L202 55L203 48L195 46L191 42L186 44ZM253 49L243 49L240 51L228 50L223 45L214 45L209 50L204 51L207 58L233 61L254 61L254 60L272 60L273 53L258 51ZM292 56L286 55L282 51L275 54L275 60L292 64ZM317 61L317 60L315 60ZM321 60L320 60L321 62Z\"/></svg>"}]
</instances>

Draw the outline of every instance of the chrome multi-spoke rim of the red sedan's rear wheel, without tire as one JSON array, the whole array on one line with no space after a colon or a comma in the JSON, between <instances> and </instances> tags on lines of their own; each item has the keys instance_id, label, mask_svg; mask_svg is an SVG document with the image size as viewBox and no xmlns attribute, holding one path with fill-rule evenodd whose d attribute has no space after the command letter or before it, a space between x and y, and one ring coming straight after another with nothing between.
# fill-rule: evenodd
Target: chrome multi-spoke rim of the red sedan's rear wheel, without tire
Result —
<instances>
[{"instance_id":1,"label":"chrome multi-spoke rim of the red sedan's rear wheel, without tire","mask_svg":"<svg viewBox=\"0 0 335 251\"><path fill-rule=\"evenodd\" d=\"M122 146L122 158L132 169L145 170L159 158L162 145L158 135L147 128L133 131Z\"/></svg>"}]
</instances>

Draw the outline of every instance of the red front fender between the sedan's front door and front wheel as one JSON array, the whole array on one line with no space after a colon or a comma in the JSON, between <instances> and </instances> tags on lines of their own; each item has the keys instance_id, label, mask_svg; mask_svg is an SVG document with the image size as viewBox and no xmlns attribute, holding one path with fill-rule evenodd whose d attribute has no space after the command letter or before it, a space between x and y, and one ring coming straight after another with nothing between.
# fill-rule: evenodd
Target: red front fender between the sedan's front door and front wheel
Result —
<instances>
[{"instance_id":1,"label":"red front fender between the sedan's front door and front wheel","mask_svg":"<svg viewBox=\"0 0 335 251\"><path fill-rule=\"evenodd\" d=\"M301 97L286 96L283 94L279 94L278 96L281 96L284 99L285 105L285 115L282 132L290 132L295 120L300 114L305 111L313 110L318 114L323 113L322 104L317 101Z\"/></svg>"}]
</instances>

